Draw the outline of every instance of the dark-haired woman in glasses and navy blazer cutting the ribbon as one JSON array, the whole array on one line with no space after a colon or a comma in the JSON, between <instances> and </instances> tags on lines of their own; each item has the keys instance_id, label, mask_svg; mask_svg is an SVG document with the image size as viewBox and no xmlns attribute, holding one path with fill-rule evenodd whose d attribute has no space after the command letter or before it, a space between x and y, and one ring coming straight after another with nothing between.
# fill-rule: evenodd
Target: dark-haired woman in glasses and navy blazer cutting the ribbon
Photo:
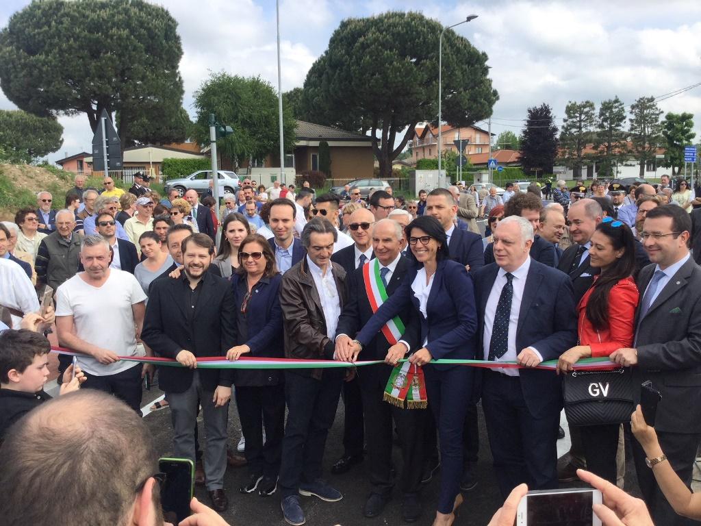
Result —
<instances>
[{"instance_id":1,"label":"dark-haired woman in glasses and navy blazer cutting the ribbon","mask_svg":"<svg viewBox=\"0 0 701 526\"><path fill-rule=\"evenodd\" d=\"M465 267L451 261L445 231L434 217L420 216L406 228L414 269L400 288L379 308L358 333L361 345L390 318L411 302L421 318L421 341L409 357L426 365L428 405L438 426L442 477L434 526L448 526L463 501L460 478L463 470L463 422L472 396L473 368L430 364L434 358L475 358L477 309L472 280ZM409 342L411 344L412 342ZM397 344L403 345L403 344ZM427 365L428 364L428 365Z\"/></svg>"}]
</instances>

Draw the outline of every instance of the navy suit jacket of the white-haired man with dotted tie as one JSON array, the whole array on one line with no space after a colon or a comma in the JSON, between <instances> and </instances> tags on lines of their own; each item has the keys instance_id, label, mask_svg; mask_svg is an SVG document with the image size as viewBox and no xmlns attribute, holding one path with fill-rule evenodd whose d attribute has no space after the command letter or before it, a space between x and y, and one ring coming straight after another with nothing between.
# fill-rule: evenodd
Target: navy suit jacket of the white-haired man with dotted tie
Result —
<instances>
[{"instance_id":1,"label":"navy suit jacket of the white-haired man with dotted tie","mask_svg":"<svg viewBox=\"0 0 701 526\"><path fill-rule=\"evenodd\" d=\"M477 273L479 358L484 358L484 311L499 267L489 264ZM516 351L532 346L543 360L554 360L577 342L577 313L572 283L562 272L531 258L519 310ZM521 391L533 417L562 409L562 377L552 371L519 369Z\"/></svg>"}]
</instances>

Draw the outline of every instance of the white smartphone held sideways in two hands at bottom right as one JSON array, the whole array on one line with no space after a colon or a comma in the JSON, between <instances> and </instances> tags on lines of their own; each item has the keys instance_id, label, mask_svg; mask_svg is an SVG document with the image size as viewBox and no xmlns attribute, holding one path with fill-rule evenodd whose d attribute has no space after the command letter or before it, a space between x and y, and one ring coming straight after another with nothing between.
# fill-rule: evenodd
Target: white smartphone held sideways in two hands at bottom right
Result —
<instances>
[{"instance_id":1,"label":"white smartphone held sideways in two hands at bottom right","mask_svg":"<svg viewBox=\"0 0 701 526\"><path fill-rule=\"evenodd\" d=\"M528 492L519 502L517 526L601 526L592 506L601 492L585 488Z\"/></svg>"}]
</instances>

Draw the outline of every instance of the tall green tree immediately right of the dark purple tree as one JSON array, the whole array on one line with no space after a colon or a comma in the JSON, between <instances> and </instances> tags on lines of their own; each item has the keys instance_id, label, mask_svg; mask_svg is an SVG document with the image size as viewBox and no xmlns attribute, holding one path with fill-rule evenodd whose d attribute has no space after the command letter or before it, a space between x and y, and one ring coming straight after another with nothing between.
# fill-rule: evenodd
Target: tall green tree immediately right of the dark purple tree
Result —
<instances>
[{"instance_id":1,"label":"tall green tree immediately right of the dark purple tree","mask_svg":"<svg viewBox=\"0 0 701 526\"><path fill-rule=\"evenodd\" d=\"M572 168L576 179L582 177L582 167L587 162L584 150L592 142L594 123L594 102L568 102L565 117L562 119L560 148L565 166Z\"/></svg>"}]
</instances>

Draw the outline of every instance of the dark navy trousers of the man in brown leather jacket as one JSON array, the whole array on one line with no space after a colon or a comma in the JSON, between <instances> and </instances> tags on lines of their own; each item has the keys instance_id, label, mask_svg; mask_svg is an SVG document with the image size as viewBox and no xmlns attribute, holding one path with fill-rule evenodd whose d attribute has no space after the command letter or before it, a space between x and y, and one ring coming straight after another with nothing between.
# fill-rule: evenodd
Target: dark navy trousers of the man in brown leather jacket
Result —
<instances>
[{"instance_id":1,"label":"dark navy trousers of the man in brown leather jacket","mask_svg":"<svg viewBox=\"0 0 701 526\"><path fill-rule=\"evenodd\" d=\"M326 438L336 417L345 373L343 369L324 369L317 380L285 371L287 424L279 481L282 499L296 495L299 483L321 477Z\"/></svg>"}]
</instances>

